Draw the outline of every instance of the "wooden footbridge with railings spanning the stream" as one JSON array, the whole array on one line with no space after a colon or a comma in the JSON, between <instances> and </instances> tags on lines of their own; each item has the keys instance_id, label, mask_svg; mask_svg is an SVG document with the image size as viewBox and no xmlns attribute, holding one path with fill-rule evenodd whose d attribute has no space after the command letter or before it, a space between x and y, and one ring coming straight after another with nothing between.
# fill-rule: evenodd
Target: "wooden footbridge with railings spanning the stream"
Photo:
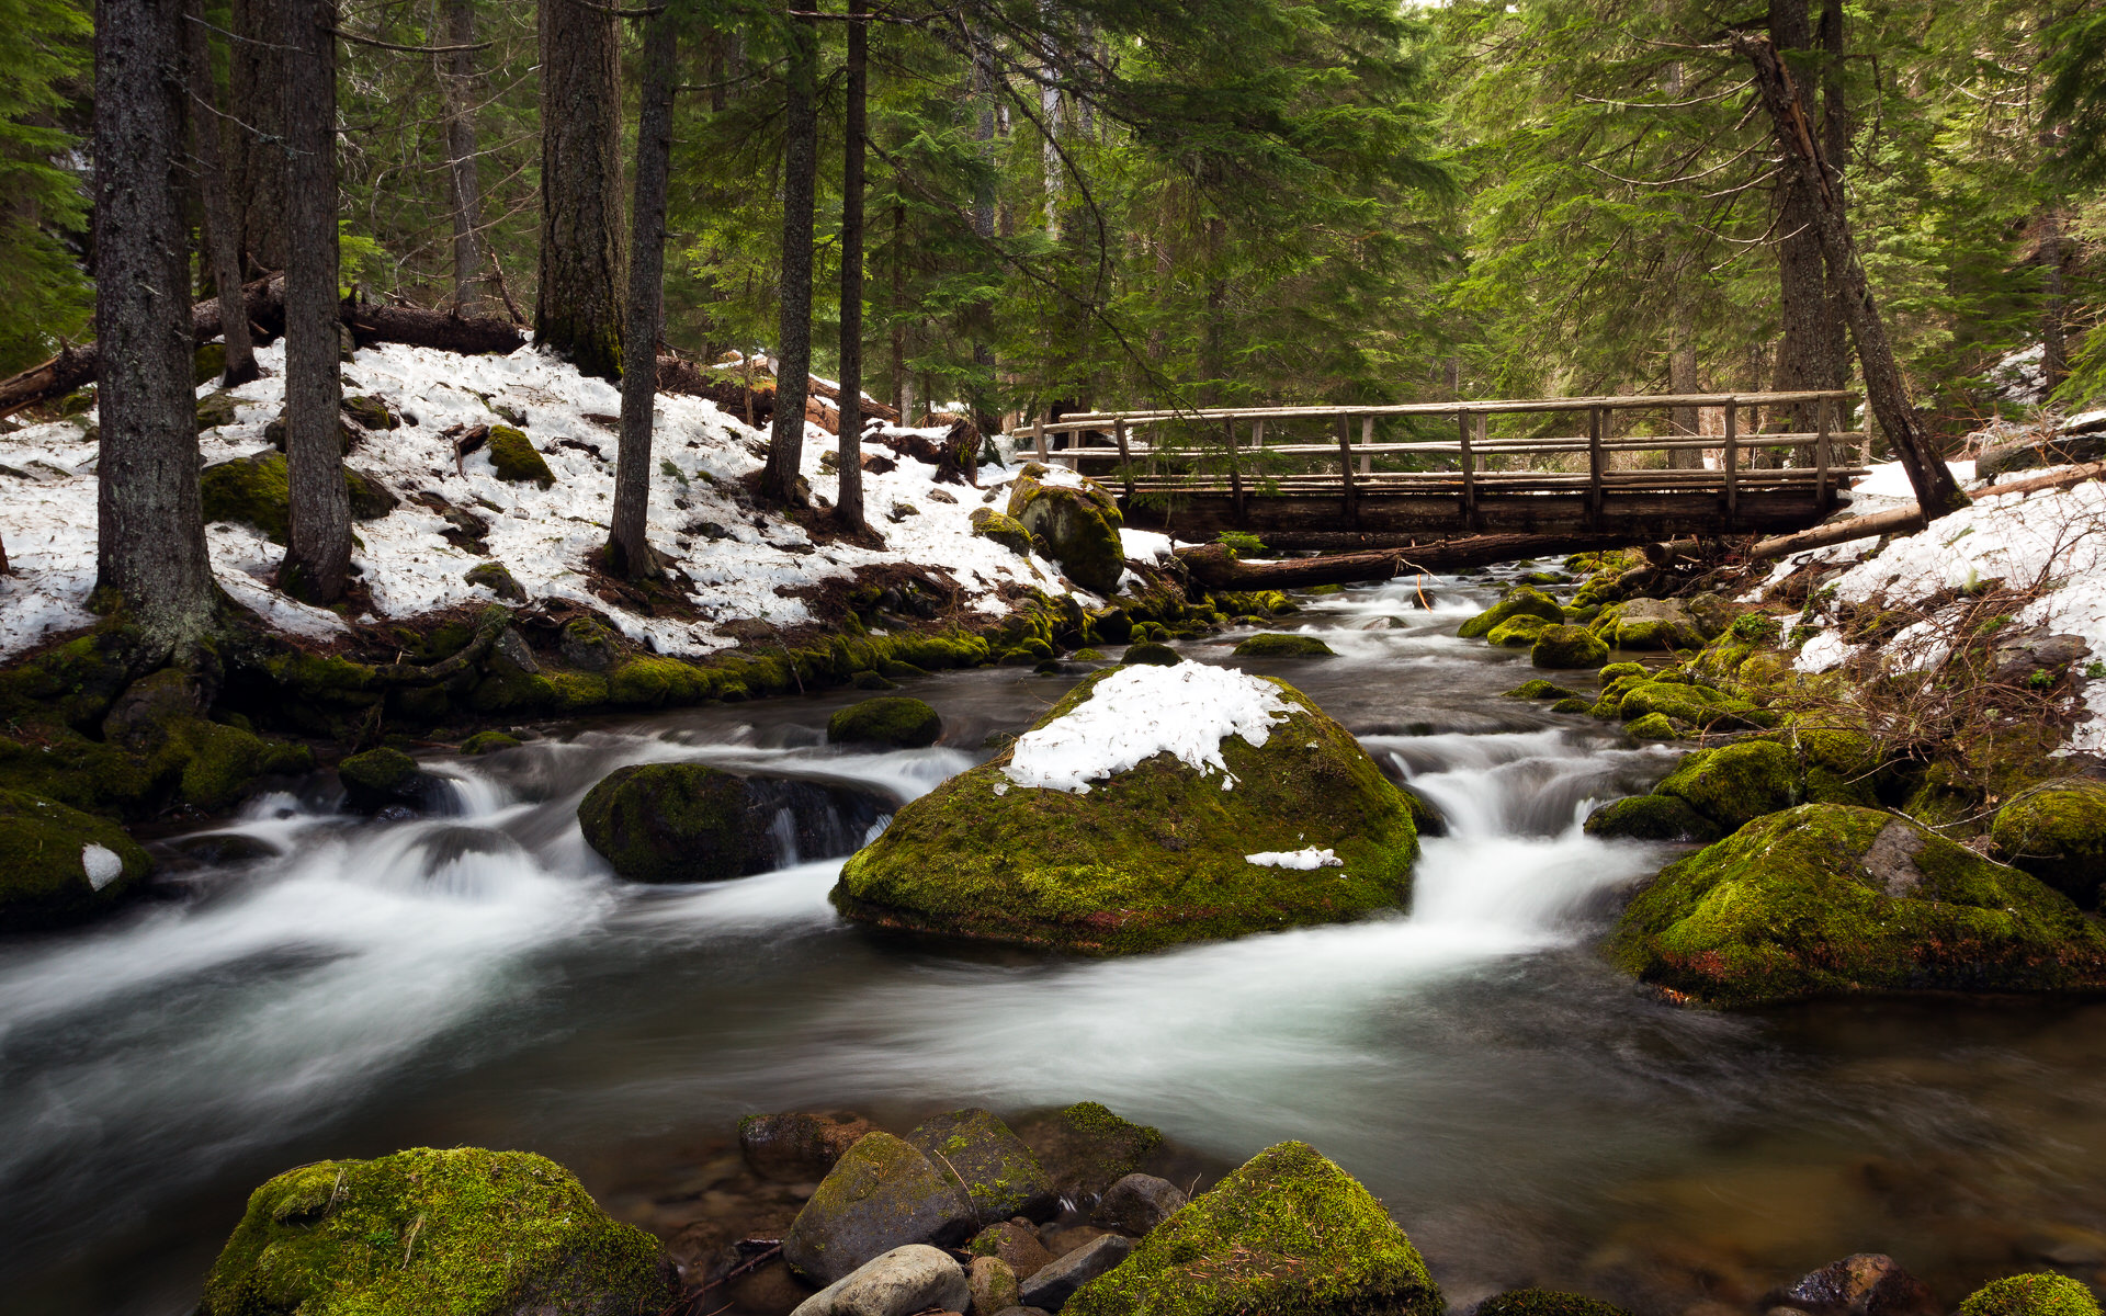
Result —
<instances>
[{"instance_id":1,"label":"wooden footbridge with railings spanning the stream","mask_svg":"<svg viewBox=\"0 0 2106 1316\"><path fill-rule=\"evenodd\" d=\"M1853 398L1830 390L1093 411L1038 421L1030 438L1038 459L1116 488L1129 526L1179 539L1773 535L1822 522L1864 474L1866 436L1845 427ZM1723 434L1672 432L1670 415L1687 408L1723 411ZM1773 423L1811 413L1813 427L1765 434L1765 413ZM1426 438L1443 430L1453 438ZM1670 453L1702 463L1674 465Z\"/></svg>"}]
</instances>

